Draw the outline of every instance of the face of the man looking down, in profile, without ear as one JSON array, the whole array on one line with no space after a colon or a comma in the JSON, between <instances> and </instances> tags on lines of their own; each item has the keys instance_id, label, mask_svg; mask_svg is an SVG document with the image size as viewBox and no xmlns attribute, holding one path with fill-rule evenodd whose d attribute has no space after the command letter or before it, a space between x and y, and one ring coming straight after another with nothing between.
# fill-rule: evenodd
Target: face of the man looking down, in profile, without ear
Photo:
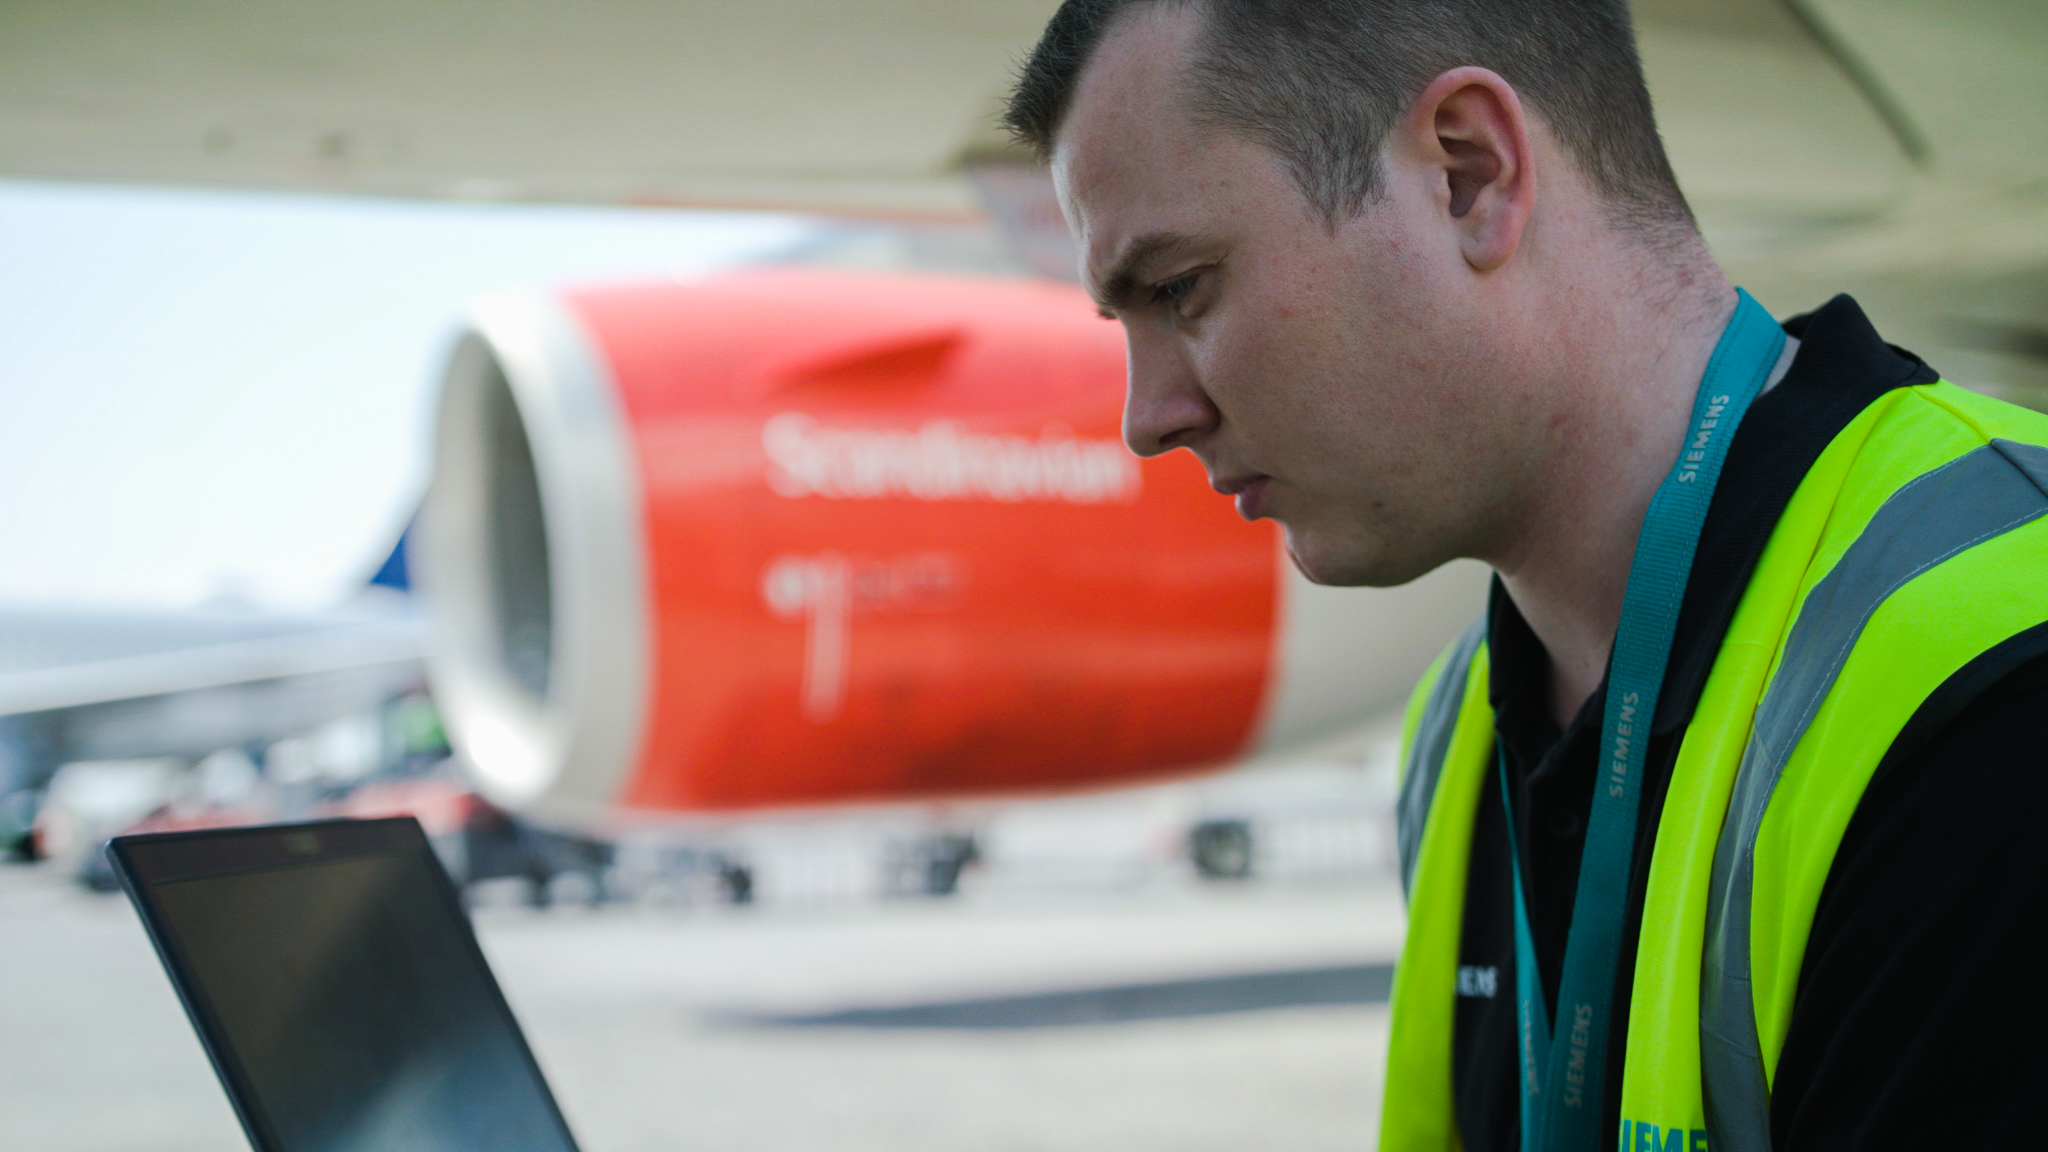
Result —
<instances>
[{"instance_id":1,"label":"face of the man looking down, in profile, without ear","mask_svg":"<svg viewBox=\"0 0 2048 1152\"><path fill-rule=\"evenodd\" d=\"M1473 480L1489 398L1468 385L1487 348L1440 197L1389 158L1384 195L1325 225L1276 154L1190 121L1198 29L1190 8L1124 16L1053 150L1087 285L1128 340L1124 441L1192 449L1311 580L1399 584L1470 553L1493 504Z\"/></svg>"}]
</instances>

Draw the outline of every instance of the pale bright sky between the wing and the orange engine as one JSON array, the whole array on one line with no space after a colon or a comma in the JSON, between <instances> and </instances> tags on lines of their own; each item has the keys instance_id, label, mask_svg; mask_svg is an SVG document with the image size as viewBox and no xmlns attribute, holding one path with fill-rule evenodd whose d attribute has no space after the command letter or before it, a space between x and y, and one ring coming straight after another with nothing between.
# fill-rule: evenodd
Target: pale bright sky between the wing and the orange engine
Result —
<instances>
[{"instance_id":1,"label":"pale bright sky between the wing and the orange engine","mask_svg":"<svg viewBox=\"0 0 2048 1152\"><path fill-rule=\"evenodd\" d=\"M696 275L793 215L0 180L0 603L332 605L485 291Z\"/></svg>"}]
</instances>

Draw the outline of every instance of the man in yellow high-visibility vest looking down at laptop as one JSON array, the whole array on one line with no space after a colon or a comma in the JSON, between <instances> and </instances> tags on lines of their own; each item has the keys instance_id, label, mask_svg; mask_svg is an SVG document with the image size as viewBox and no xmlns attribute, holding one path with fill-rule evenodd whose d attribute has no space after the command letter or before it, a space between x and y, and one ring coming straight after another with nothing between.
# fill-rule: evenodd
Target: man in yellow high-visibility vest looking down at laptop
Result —
<instances>
[{"instance_id":1,"label":"man in yellow high-visibility vest looking down at laptop","mask_svg":"<svg viewBox=\"0 0 2048 1152\"><path fill-rule=\"evenodd\" d=\"M2042 1140L2048 418L1741 297L1620 0L1069 0L1008 121L1133 451L1319 582L1497 572L1409 709L1380 1148Z\"/></svg>"}]
</instances>

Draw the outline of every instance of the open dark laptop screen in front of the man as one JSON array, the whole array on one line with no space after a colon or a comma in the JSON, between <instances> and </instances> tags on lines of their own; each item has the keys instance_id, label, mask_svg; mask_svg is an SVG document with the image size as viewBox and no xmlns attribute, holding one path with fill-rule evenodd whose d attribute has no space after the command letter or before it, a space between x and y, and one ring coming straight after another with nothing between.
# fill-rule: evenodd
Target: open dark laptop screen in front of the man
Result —
<instances>
[{"instance_id":1,"label":"open dark laptop screen in front of the man","mask_svg":"<svg viewBox=\"0 0 2048 1152\"><path fill-rule=\"evenodd\" d=\"M258 1152L575 1152L410 816L106 853Z\"/></svg>"}]
</instances>

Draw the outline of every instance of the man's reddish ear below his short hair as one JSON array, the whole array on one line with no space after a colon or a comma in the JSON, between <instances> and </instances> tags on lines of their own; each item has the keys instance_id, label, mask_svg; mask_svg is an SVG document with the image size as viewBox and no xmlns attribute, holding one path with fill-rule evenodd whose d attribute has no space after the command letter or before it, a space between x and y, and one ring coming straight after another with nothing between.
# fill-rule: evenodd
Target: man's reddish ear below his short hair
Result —
<instances>
[{"instance_id":1,"label":"man's reddish ear below his short hair","mask_svg":"<svg viewBox=\"0 0 2048 1152\"><path fill-rule=\"evenodd\" d=\"M1403 127L1464 262L1491 273L1513 258L1536 207L1536 166L1522 98L1507 80L1452 68L1415 96Z\"/></svg>"}]
</instances>

